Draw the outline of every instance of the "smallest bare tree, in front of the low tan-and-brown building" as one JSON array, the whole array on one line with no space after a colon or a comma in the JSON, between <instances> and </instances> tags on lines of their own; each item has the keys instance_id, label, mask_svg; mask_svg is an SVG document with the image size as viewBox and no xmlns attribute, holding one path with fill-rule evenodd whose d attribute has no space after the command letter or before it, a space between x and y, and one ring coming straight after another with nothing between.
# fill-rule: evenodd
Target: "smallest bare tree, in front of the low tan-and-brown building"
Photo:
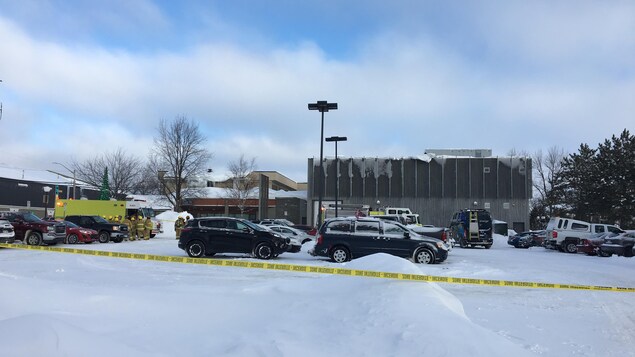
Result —
<instances>
[{"instance_id":1,"label":"smallest bare tree, in front of the low tan-and-brown building","mask_svg":"<svg viewBox=\"0 0 635 357\"><path fill-rule=\"evenodd\" d=\"M251 173L256 170L256 159L246 160L245 155L240 155L238 161L232 161L228 166L231 177L231 187L226 188L228 198L236 201L240 214L245 213L247 200L258 187L258 179Z\"/></svg>"}]
</instances>

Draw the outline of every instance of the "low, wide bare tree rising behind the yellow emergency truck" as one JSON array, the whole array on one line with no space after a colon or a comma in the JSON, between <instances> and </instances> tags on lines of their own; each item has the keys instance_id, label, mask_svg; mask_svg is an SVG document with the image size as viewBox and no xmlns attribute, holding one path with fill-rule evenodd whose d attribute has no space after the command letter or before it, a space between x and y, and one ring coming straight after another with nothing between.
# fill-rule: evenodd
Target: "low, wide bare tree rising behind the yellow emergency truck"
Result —
<instances>
[{"instance_id":1,"label":"low, wide bare tree rising behind the yellow emergency truck","mask_svg":"<svg viewBox=\"0 0 635 357\"><path fill-rule=\"evenodd\" d=\"M101 187L104 170L108 168L110 196L117 199L123 199L126 193L133 191L134 186L139 181L139 167L141 165L139 158L126 154L122 148L95 156L84 162L73 161L71 163L77 179L95 187Z\"/></svg>"}]
</instances>

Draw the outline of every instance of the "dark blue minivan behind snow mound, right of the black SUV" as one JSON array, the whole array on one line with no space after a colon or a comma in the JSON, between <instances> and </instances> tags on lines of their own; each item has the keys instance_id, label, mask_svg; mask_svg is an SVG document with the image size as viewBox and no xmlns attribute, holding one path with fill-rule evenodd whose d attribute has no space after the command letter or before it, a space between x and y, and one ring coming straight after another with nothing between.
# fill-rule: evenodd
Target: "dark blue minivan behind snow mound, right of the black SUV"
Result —
<instances>
[{"instance_id":1,"label":"dark blue minivan behind snow mound, right of the black SUV","mask_svg":"<svg viewBox=\"0 0 635 357\"><path fill-rule=\"evenodd\" d=\"M369 217L330 219L320 227L313 256L337 263L374 253L412 258L415 263L441 263L448 257L442 240L419 235L406 226Z\"/></svg>"}]
</instances>

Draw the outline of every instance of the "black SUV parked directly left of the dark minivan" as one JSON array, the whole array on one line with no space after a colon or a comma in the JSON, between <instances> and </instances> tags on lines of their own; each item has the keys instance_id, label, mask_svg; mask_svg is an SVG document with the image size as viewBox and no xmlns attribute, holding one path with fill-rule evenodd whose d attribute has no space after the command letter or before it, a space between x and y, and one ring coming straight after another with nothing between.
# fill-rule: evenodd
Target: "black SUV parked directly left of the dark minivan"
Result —
<instances>
[{"instance_id":1,"label":"black SUV parked directly left of the dark minivan","mask_svg":"<svg viewBox=\"0 0 635 357\"><path fill-rule=\"evenodd\" d=\"M289 238L246 219L231 217L194 218L187 222L179 248L190 257L211 257L216 253L248 253L271 259L286 252Z\"/></svg>"}]
</instances>

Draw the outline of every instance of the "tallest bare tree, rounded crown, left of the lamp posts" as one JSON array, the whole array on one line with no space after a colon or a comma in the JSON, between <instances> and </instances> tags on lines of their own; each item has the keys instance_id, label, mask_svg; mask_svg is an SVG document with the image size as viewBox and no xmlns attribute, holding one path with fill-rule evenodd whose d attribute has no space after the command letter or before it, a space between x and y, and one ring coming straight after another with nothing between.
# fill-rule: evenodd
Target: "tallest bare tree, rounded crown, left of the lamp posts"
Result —
<instances>
[{"instance_id":1,"label":"tallest bare tree, rounded crown, left of the lamp posts","mask_svg":"<svg viewBox=\"0 0 635 357\"><path fill-rule=\"evenodd\" d=\"M157 134L149 168L157 173L162 194L181 211L188 180L204 171L212 154L203 147L205 138L198 124L185 116L171 122L161 119Z\"/></svg>"}]
</instances>

